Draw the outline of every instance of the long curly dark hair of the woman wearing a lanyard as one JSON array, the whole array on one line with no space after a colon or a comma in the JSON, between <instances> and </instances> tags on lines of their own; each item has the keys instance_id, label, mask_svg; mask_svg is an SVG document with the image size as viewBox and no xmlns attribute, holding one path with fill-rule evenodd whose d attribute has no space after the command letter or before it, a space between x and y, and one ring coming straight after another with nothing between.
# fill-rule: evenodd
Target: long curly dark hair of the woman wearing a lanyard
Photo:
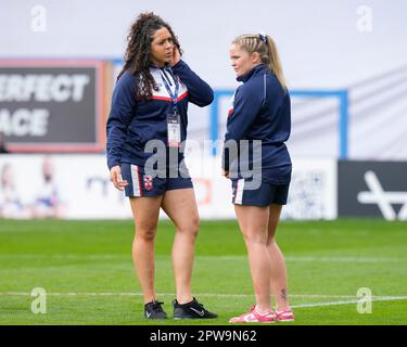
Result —
<instances>
[{"instance_id":1,"label":"long curly dark hair of the woman wearing a lanyard","mask_svg":"<svg viewBox=\"0 0 407 347\"><path fill-rule=\"evenodd\" d=\"M128 69L137 78L136 97L143 101L150 101L154 78L150 73L151 66L151 42L156 30L167 28L173 36L174 46L181 52L178 38L174 35L171 27L153 12L141 13L131 25L127 36L127 49L125 53L125 64L118 74L117 80Z\"/></svg>"}]
</instances>

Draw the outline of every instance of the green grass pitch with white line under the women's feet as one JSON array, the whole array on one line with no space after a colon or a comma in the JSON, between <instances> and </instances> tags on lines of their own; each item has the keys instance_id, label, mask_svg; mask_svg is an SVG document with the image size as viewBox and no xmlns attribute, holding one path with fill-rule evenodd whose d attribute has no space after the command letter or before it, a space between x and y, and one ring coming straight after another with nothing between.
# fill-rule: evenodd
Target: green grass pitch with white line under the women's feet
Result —
<instances>
[{"instance_id":1,"label":"green grass pitch with white line under the women's feet","mask_svg":"<svg viewBox=\"0 0 407 347\"><path fill-rule=\"evenodd\" d=\"M175 229L161 221L156 291L171 317ZM132 221L0 220L0 324L228 324L253 304L236 221L202 221L193 293L216 320L152 322L131 261ZM289 272L290 324L406 324L407 224L382 220L282 221L277 241ZM31 312L31 290L47 313ZM373 295L371 312L357 291ZM279 323L277 323L279 324ZM285 323L289 324L289 323Z\"/></svg>"}]
</instances>

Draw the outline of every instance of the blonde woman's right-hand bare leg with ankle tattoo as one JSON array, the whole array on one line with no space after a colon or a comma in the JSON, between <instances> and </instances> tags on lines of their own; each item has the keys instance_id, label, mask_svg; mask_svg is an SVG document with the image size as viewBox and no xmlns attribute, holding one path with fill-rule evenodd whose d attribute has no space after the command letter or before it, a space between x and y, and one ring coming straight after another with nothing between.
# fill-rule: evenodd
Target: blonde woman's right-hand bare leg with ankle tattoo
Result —
<instances>
[{"instance_id":1,"label":"blonde woman's right-hand bare leg with ankle tattoo","mask_svg":"<svg viewBox=\"0 0 407 347\"><path fill-rule=\"evenodd\" d=\"M271 292L279 310L289 306L285 260L275 240L281 209L281 205L270 205L267 236L267 253L271 267Z\"/></svg>"}]
</instances>

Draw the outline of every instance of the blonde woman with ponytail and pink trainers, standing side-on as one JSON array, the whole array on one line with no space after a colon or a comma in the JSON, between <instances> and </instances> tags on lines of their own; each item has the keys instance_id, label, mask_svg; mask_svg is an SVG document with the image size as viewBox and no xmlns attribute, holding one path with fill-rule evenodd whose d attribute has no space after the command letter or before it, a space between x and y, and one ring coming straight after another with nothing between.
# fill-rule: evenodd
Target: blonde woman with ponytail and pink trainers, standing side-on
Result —
<instances>
[{"instance_id":1,"label":"blonde woman with ponytail and pink trainers, standing side-on","mask_svg":"<svg viewBox=\"0 0 407 347\"><path fill-rule=\"evenodd\" d=\"M232 203L247 248L256 298L247 313L230 322L293 321L284 257L275 239L291 180L291 159L284 144L291 129L290 95L270 36L237 37L230 47L230 60L243 85L237 89L229 111L222 163L225 176L232 181ZM240 151L230 150L232 142ZM252 153L246 157L242 143ZM255 143L260 143L257 151L262 150L257 159ZM256 166L257 177L247 177L249 169L242 169L256 172Z\"/></svg>"}]
</instances>

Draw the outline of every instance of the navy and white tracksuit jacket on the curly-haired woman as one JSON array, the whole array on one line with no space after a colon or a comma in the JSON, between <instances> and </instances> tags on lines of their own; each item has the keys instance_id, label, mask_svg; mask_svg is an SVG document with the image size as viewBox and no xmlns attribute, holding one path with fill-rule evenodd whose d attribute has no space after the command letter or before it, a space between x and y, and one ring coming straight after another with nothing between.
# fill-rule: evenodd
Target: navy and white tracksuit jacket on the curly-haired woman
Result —
<instances>
[{"instance_id":1,"label":"navy and white tracksuit jacket on the curly-haired woman","mask_svg":"<svg viewBox=\"0 0 407 347\"><path fill-rule=\"evenodd\" d=\"M191 68L180 61L173 67L151 67L158 87L153 90L151 101L137 100L135 76L125 72L117 81L112 99L112 110L107 119L107 166L122 163L144 166L153 155L144 152L149 140L161 140L167 144L167 115L173 113L174 103L164 85L164 78L175 93L175 79L179 81L177 108L181 118L181 141L187 138L188 103L206 106L212 103L214 93ZM182 159L183 155L179 155Z\"/></svg>"}]
</instances>

